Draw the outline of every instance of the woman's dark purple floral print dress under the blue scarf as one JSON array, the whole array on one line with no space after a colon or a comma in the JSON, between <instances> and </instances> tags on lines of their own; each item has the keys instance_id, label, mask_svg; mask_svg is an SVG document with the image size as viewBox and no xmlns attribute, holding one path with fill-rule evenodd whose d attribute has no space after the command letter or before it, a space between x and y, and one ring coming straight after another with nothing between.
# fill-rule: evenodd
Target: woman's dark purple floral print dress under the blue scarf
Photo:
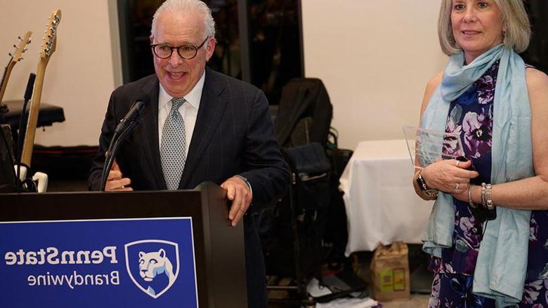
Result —
<instances>
[{"instance_id":1,"label":"woman's dark purple floral print dress under the blue scarf","mask_svg":"<svg viewBox=\"0 0 548 308\"><path fill-rule=\"evenodd\" d=\"M495 62L465 93L450 103L446 133L460 135L464 156L479 177L471 184L489 183L491 175L493 98L499 62ZM452 154L450 140L443 154ZM472 293L474 269L485 222L467 202L454 199L455 228L452 248L432 257L434 272L429 307L495 307L495 301ZM521 307L548 308L548 212L533 212L530 224L528 276ZM543 228L544 227L544 228Z\"/></svg>"}]
</instances>

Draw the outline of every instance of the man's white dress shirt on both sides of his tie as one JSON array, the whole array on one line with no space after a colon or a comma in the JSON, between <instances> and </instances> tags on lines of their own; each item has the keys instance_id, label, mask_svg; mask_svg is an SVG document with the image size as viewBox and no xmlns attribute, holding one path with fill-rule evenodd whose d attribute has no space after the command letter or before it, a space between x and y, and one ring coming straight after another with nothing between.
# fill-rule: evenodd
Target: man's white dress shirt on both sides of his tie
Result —
<instances>
[{"instance_id":1,"label":"man's white dress shirt on both sides of his tie","mask_svg":"<svg viewBox=\"0 0 548 308\"><path fill-rule=\"evenodd\" d=\"M188 148L193 138L194 126L196 125L196 118L198 116L198 109L200 109L200 99L202 98L202 91L204 90L205 71L202 74L202 78L196 83L196 86L184 96L186 102L179 107L179 113L185 120L185 138L186 148L185 157L188 157ZM162 84L159 84L158 94L158 145L162 147L162 129L164 123L171 110L171 99L173 97L164 90Z\"/></svg>"}]
</instances>

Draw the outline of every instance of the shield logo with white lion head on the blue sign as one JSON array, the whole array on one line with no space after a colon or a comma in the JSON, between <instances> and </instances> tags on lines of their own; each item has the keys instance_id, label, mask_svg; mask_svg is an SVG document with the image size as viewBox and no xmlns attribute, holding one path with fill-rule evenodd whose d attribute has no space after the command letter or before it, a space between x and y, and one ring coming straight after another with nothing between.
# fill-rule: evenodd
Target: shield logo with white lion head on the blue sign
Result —
<instances>
[{"instance_id":1,"label":"shield logo with white lion head on the blue sign","mask_svg":"<svg viewBox=\"0 0 548 308\"><path fill-rule=\"evenodd\" d=\"M124 246L129 277L144 293L158 298L173 286L179 274L177 243L146 239Z\"/></svg>"}]
</instances>

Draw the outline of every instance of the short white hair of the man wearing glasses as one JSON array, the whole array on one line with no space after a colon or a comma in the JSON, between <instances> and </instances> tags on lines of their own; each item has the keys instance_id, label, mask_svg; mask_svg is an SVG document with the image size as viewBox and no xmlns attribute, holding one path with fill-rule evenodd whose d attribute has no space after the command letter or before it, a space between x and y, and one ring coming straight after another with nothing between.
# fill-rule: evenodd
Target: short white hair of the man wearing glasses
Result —
<instances>
[{"instance_id":1,"label":"short white hair of the man wearing glasses","mask_svg":"<svg viewBox=\"0 0 548 308\"><path fill-rule=\"evenodd\" d=\"M150 34L155 36L156 34L156 20L159 13L173 12L173 13L198 13L204 21L205 34L209 37L215 37L215 20L211 16L211 10L207 7L207 4L200 0L167 0L165 1L154 13L152 17L152 29Z\"/></svg>"}]
</instances>

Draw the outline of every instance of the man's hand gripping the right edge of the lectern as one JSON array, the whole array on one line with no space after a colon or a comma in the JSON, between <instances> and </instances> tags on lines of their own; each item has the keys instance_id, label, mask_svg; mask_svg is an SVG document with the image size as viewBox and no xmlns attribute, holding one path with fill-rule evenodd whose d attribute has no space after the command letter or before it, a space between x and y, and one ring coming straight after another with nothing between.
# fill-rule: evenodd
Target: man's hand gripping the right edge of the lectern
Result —
<instances>
[{"instance_id":1,"label":"man's hand gripping the right edge of the lectern","mask_svg":"<svg viewBox=\"0 0 548 308\"><path fill-rule=\"evenodd\" d=\"M221 187L226 189L226 198L232 201L228 219L233 227L242 219L245 211L249 208L252 201L252 193L249 186L241 178L232 177L223 182Z\"/></svg>"}]
</instances>

